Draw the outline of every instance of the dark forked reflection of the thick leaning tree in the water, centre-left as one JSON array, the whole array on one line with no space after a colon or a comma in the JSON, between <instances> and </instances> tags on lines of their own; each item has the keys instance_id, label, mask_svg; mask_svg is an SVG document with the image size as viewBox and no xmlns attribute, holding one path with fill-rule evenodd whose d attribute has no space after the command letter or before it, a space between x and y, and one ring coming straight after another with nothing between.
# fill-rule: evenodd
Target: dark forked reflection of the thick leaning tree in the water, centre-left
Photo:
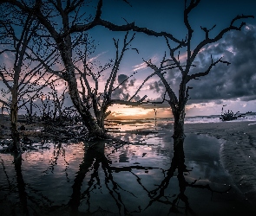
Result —
<instances>
[{"instance_id":1,"label":"dark forked reflection of the thick leaning tree in the water, centre-left","mask_svg":"<svg viewBox=\"0 0 256 216\"><path fill-rule=\"evenodd\" d=\"M125 191L129 194L133 193L125 190L118 184L113 176L113 172L120 171L130 171L132 168L115 168L110 167L110 161L107 156L104 155L104 142L95 143L91 146L91 148L87 149L84 153L83 161L79 166L79 171L76 173L75 181L72 186L73 194L71 195L71 199L69 200L70 213L71 215L77 215L78 207L80 206L81 200L86 199L86 203L88 205L88 213L91 213L90 210L90 194L94 192L94 190L99 187L102 187L102 184L108 189L108 194L110 194L111 198L115 201L115 205L118 207L119 214L122 212L124 214L129 213L128 208L124 204L121 198L121 191ZM100 164L102 165L102 170L104 173L104 182L102 183L99 177L99 168ZM81 193L82 182L84 181L85 176L92 171L90 175L89 181L87 183L87 189ZM106 211L99 207L98 211ZM110 212L109 212L110 213Z\"/></svg>"}]
</instances>

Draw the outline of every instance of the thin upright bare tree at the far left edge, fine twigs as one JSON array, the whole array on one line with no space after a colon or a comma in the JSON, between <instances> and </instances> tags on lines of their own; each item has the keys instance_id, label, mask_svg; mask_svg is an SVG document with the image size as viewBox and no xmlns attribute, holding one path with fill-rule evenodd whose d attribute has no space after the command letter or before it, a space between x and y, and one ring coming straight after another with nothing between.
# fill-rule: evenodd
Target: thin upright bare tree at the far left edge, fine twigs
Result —
<instances>
[{"instance_id":1,"label":"thin upright bare tree at the far left edge, fine twigs","mask_svg":"<svg viewBox=\"0 0 256 216\"><path fill-rule=\"evenodd\" d=\"M19 11L10 9L10 12L12 12L12 16L20 16ZM28 102L28 100L24 102L22 98L25 95L35 96L47 85L53 75L46 76L40 62L34 65L35 62L27 58L30 55L28 47L39 26L38 22L35 22L33 14L30 13L25 20L18 17L15 22L10 22L10 18L3 17L0 21L2 45L0 54L14 54L14 58L11 59L12 67L6 65L0 67L0 80L6 86L6 89L1 89L1 92L3 98L7 98L0 99L0 102L10 107L12 149L19 151L21 147L17 131L17 114L18 109ZM22 29L22 32L17 32L17 29Z\"/></svg>"}]
</instances>

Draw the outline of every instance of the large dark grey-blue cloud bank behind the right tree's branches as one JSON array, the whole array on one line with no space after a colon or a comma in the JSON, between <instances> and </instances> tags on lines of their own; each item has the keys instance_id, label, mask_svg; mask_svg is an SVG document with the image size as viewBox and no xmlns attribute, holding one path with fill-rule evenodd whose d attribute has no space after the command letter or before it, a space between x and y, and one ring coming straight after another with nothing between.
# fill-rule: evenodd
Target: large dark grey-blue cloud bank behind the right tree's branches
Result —
<instances>
[{"instance_id":1,"label":"large dark grey-blue cloud bank behind the right tree's branches","mask_svg":"<svg viewBox=\"0 0 256 216\"><path fill-rule=\"evenodd\" d=\"M189 95L193 102L207 103L216 101L220 104L222 99L237 99L244 101L256 99L256 27L249 26L242 31L228 33L219 43L209 45L198 55L197 67L191 73L207 70L213 60L227 60L231 64L218 63L211 72L200 80L191 80L187 86L192 86ZM167 80L177 93L179 88L179 75L168 73Z\"/></svg>"}]
</instances>

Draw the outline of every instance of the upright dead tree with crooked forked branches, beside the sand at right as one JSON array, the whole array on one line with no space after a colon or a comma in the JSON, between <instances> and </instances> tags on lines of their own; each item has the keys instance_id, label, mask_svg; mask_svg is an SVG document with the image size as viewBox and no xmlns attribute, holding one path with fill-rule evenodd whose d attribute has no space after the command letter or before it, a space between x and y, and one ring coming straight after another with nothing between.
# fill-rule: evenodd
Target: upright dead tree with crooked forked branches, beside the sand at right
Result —
<instances>
[{"instance_id":1,"label":"upright dead tree with crooked forked branches, beside the sand at right","mask_svg":"<svg viewBox=\"0 0 256 216\"><path fill-rule=\"evenodd\" d=\"M189 3L187 3L189 2ZM234 22L239 21L243 18L249 18L253 16L236 16L231 21L230 25L226 27L226 29L220 30L219 34L211 38L209 36L209 32L215 28L216 25L213 26L211 29L203 28L201 29L205 33L204 40L200 41L200 43L197 44L197 46L192 50L192 38L194 30L192 29L188 16L192 10L200 3L200 0L192 0L192 1L185 1L185 10L184 10L184 23L187 28L187 36L186 40L183 40L181 42L177 42L177 45L175 47L171 46L171 41L174 42L175 40L167 38L165 35L166 41L167 41L167 48L170 54L170 58L166 59L166 54L164 55L163 59L161 60L160 67L157 67L152 63L151 60L144 60L148 67L150 67L154 73L159 76L161 79L163 85L166 88L166 93L168 96L168 99L165 98L167 103L170 105L173 115L174 115L174 149L177 145L181 145L184 142L184 118L185 118L185 107L187 105L187 100L189 99L189 90L192 89L192 87L187 86L188 82L192 79L199 79L202 76L206 76L208 73L210 73L211 69L216 66L219 63L223 63L226 65L229 65L230 63L222 60L222 57L219 59L214 60L211 56L211 64L207 67L207 69L203 72L193 73L191 74L191 69L193 67L196 67L194 65L194 60L197 57L197 55L200 53L201 49L204 48L207 44L220 41L223 35L225 35L230 30L241 30L243 26L246 25L245 22L241 22L240 26L237 27L234 25ZM176 40L177 41L177 40ZM182 61L179 58L180 50L181 48L187 48L187 60ZM178 55L176 55L178 52ZM168 80L165 77L165 73L167 73L167 70L169 69L178 69L181 73L181 84L179 89L179 94L175 95L174 90L172 89L172 86L169 85Z\"/></svg>"}]
</instances>

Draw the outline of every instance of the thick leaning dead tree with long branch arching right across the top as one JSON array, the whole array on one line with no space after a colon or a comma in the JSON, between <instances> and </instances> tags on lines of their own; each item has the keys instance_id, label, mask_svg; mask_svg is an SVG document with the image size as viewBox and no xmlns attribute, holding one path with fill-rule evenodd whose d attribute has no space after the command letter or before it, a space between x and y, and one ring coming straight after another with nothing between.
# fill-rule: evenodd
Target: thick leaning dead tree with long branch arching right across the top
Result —
<instances>
[{"instance_id":1,"label":"thick leaning dead tree with long branch arching right across the top","mask_svg":"<svg viewBox=\"0 0 256 216\"><path fill-rule=\"evenodd\" d=\"M69 95L76 110L81 115L85 126L88 128L90 135L94 137L106 137L105 131L101 125L97 124L95 118L89 111L89 107L80 97L78 83L75 76L75 62L73 61L73 51L80 41L81 33L86 33L95 26L103 26L113 31L143 32L147 35L166 36L167 38L185 45L184 41L177 40L173 35L166 32L155 32L147 28L141 28L135 23L127 23L126 25L115 25L114 23L105 21L102 16L102 0L98 1L95 16L87 16L84 11L87 10L85 1L68 1L65 5L62 1L36 1L36 3L24 3L18 0L4 0L3 3L10 3L16 8L23 10L23 13L30 13L35 10L36 19L47 29L48 33L38 35L43 38L47 49L57 50L60 55L64 70L55 71L45 64L49 72L57 74L69 84ZM127 2L127 1L125 1ZM52 19L51 17L55 17ZM59 19L59 22L56 20ZM81 24L82 23L82 24ZM49 34L49 35L48 35ZM41 61L43 63L43 60ZM88 99L88 98L86 98Z\"/></svg>"}]
</instances>

